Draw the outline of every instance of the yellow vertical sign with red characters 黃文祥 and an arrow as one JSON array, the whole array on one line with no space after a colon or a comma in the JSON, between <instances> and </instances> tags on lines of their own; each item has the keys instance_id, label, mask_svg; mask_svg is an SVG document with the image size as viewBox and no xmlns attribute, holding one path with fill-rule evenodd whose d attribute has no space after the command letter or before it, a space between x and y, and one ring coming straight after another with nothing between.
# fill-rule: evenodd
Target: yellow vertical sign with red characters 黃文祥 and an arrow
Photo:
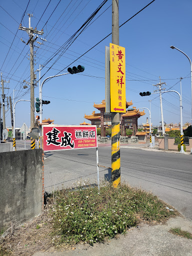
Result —
<instances>
[{"instance_id":1,"label":"yellow vertical sign with red characters \u9ec3\u6587\u7965 and an arrow","mask_svg":"<svg viewBox=\"0 0 192 256\"><path fill-rule=\"evenodd\" d=\"M110 111L126 112L125 48L110 43Z\"/></svg>"}]
</instances>

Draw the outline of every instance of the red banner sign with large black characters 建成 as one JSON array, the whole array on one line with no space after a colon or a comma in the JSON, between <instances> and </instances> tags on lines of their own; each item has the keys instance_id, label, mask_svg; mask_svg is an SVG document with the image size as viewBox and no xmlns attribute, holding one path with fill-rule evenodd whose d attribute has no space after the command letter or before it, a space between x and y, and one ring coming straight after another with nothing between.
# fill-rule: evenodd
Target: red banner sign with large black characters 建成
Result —
<instances>
[{"instance_id":1,"label":"red banner sign with large black characters \u5efa\u6210","mask_svg":"<svg viewBox=\"0 0 192 256\"><path fill-rule=\"evenodd\" d=\"M96 125L43 125L43 150L97 147Z\"/></svg>"}]
</instances>

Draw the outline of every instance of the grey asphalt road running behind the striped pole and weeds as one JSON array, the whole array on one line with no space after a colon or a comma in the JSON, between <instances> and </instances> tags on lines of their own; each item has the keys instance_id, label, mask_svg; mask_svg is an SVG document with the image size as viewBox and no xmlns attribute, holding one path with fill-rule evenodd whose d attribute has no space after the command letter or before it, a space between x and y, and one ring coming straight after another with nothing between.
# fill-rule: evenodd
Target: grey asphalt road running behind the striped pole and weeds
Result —
<instances>
[{"instance_id":1,"label":"grey asphalt road running behind the striped pole and weeds","mask_svg":"<svg viewBox=\"0 0 192 256\"><path fill-rule=\"evenodd\" d=\"M111 148L98 147L99 164L111 166ZM61 187L96 183L95 148L45 153L46 191ZM152 191L192 220L192 155L120 148L121 181ZM100 179L108 173L99 167Z\"/></svg>"}]
</instances>

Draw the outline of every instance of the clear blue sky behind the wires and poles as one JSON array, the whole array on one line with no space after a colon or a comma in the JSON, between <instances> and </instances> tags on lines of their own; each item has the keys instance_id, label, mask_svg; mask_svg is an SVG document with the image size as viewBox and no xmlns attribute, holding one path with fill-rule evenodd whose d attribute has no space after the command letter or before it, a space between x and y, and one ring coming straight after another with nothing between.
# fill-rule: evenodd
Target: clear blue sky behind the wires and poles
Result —
<instances>
[{"instance_id":1,"label":"clear blue sky behind the wires and poles","mask_svg":"<svg viewBox=\"0 0 192 256\"><path fill-rule=\"evenodd\" d=\"M40 48L34 47L36 50L34 70L38 69L39 64L45 64L40 72L41 76L44 75L43 78L55 75L60 70L63 70L61 73L67 71L65 67L111 32L111 0L108 0L93 18L95 21L65 52L59 53L60 58L54 63L58 57L56 55L47 63L51 55L76 32L102 0L61 0L60 2L51 0L47 6L48 2L49 0L30 0L22 20L22 26L28 27L27 13L33 13L31 26L34 28L37 24L38 30L44 26L42 37L47 41L38 39L43 44L34 43L40 46ZM119 0L119 25L149 2L150 0ZM0 71L3 73L3 79L10 80L9 83L4 84L10 88L4 90L6 96L12 97L13 89L16 89L14 92L16 100L30 99L29 89L23 88L23 80L30 80L27 55L29 45L25 45L20 40L22 37L27 41L28 35L25 31L18 30L27 3L28 0L6 0L0 3ZM55 11L50 16L55 7ZM169 47L174 45L192 59L189 26L191 9L191 0L155 0L119 28L119 45L125 47L126 54L126 100L132 100L136 108L149 108L148 100L151 99L153 124L159 124L160 121L159 97L157 94L141 97L139 92L147 90L153 92L152 84L159 82L159 76L161 81L166 82L166 89L171 87L177 91L180 91L179 77L186 77L182 79L183 123L191 121L190 64L182 53ZM84 65L83 73L52 78L43 85L42 98L50 100L50 104L43 105L43 119L48 117L54 119L55 124L79 124L83 120L86 121L83 117L84 113L90 114L93 110L98 112L93 107L93 103L100 103L105 98L105 45L109 46L110 42L111 35L71 64L71 66ZM51 65L52 68L48 70ZM38 79L39 73L35 73ZM34 89L36 97L38 97L38 89L38 86ZM177 94L163 93L162 105L164 121L179 122ZM147 110L145 112L146 114L138 119L138 124L146 121L148 112ZM29 126L29 113L29 102L18 102L16 126L21 126L23 122ZM5 116L6 126L9 126L10 112L7 111Z\"/></svg>"}]
</instances>

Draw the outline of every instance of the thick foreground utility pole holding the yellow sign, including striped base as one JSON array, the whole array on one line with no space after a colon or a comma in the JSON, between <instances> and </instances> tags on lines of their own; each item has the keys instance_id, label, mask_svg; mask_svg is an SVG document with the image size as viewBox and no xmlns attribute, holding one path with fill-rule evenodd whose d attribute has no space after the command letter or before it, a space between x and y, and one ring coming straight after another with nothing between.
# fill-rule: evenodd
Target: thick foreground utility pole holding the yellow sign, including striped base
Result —
<instances>
[{"instance_id":1,"label":"thick foreground utility pole holding the yellow sign, including striped base","mask_svg":"<svg viewBox=\"0 0 192 256\"><path fill-rule=\"evenodd\" d=\"M112 43L119 45L118 0L112 0ZM120 113L111 112L111 179L120 183Z\"/></svg>"}]
</instances>

